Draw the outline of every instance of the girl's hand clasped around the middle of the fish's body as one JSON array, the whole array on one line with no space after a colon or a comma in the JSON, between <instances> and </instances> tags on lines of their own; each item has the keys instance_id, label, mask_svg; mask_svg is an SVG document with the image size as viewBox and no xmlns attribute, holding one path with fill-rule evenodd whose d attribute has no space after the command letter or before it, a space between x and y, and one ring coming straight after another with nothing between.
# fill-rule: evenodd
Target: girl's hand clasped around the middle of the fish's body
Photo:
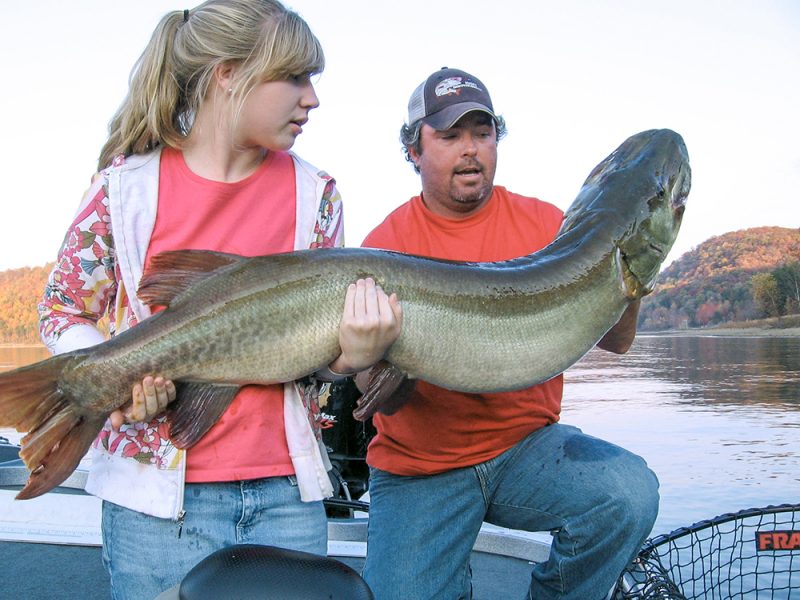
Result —
<instances>
[{"instance_id":1,"label":"girl's hand clasped around the middle of the fish's body","mask_svg":"<svg viewBox=\"0 0 800 600\"><path fill-rule=\"evenodd\" d=\"M339 324L342 353L330 364L336 373L355 373L378 362L400 335L403 309L396 294L391 296L368 277L347 288Z\"/></svg>"}]
</instances>

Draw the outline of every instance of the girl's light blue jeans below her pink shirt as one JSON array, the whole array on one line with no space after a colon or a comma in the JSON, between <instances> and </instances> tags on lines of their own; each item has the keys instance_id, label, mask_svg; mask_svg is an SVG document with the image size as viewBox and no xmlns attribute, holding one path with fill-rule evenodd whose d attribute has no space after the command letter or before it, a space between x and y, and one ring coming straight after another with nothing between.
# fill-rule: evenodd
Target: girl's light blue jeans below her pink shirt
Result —
<instances>
[{"instance_id":1,"label":"girl's light blue jeans below her pink shirt","mask_svg":"<svg viewBox=\"0 0 800 600\"><path fill-rule=\"evenodd\" d=\"M301 502L294 478L187 483L183 523L103 502L103 564L114 600L152 600L203 558L231 544L325 555L322 502Z\"/></svg>"}]
</instances>

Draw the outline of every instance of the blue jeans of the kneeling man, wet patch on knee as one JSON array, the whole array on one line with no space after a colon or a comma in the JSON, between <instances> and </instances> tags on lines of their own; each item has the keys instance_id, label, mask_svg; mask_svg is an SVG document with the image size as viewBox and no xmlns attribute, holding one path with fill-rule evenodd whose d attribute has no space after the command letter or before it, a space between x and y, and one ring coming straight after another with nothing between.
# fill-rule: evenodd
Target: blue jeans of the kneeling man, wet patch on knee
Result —
<instances>
[{"instance_id":1,"label":"blue jeans of the kneeling man, wet patch on knee","mask_svg":"<svg viewBox=\"0 0 800 600\"><path fill-rule=\"evenodd\" d=\"M376 600L471 598L483 521L553 531L529 598L600 600L658 512L658 480L643 459L561 424L474 467L420 477L372 469L369 491L363 575Z\"/></svg>"}]
</instances>

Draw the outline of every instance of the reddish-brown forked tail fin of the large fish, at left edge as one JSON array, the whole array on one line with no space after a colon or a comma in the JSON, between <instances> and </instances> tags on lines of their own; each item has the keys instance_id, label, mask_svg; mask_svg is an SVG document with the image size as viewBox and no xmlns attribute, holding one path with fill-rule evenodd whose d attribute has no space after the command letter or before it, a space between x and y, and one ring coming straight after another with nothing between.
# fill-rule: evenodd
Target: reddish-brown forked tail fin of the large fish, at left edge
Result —
<instances>
[{"instance_id":1,"label":"reddish-brown forked tail fin of the large fish, at left edge","mask_svg":"<svg viewBox=\"0 0 800 600\"><path fill-rule=\"evenodd\" d=\"M35 498L62 483L86 454L105 417L89 419L58 385L74 354L0 373L0 427L28 432L20 458L31 470L17 498Z\"/></svg>"}]
</instances>

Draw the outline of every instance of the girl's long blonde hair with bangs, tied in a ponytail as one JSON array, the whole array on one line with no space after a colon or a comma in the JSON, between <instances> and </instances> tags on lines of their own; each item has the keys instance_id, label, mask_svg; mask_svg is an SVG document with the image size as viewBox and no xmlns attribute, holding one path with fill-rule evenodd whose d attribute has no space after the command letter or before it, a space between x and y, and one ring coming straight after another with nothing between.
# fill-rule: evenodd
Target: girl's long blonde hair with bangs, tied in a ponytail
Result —
<instances>
[{"instance_id":1,"label":"girl's long blonde hair with bangs, tied in a ponytail","mask_svg":"<svg viewBox=\"0 0 800 600\"><path fill-rule=\"evenodd\" d=\"M131 71L128 94L109 124L98 170L123 154L180 148L219 65L235 66L238 114L264 81L321 73L319 40L277 0L208 0L166 14Z\"/></svg>"}]
</instances>

